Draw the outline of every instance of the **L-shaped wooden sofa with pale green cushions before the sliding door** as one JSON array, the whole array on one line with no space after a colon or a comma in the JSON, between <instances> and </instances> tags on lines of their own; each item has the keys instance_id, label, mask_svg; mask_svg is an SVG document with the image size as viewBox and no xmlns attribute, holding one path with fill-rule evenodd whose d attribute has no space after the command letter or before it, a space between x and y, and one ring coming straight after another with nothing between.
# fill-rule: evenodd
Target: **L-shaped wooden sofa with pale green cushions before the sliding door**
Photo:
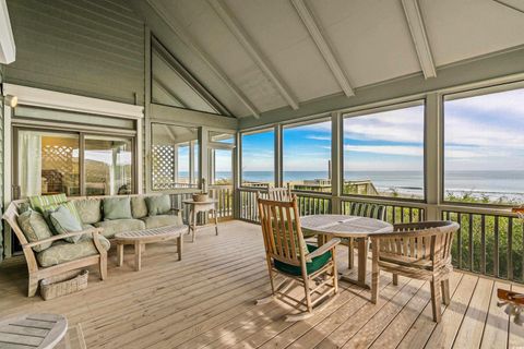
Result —
<instances>
[{"instance_id":1,"label":"L-shaped wooden sofa with pale green cushions before the sliding door","mask_svg":"<svg viewBox=\"0 0 524 349\"><path fill-rule=\"evenodd\" d=\"M22 212L29 206L28 201L13 201L8 206L3 218L22 244L29 276L28 297L35 296L39 280L88 265L98 265L100 279L104 280L107 276L109 240L118 232L183 225L177 209L170 209L166 215L148 216L145 197L151 195L120 195L118 197L126 196L130 197L132 218L111 220L105 220L103 203L104 198L117 196L69 197L68 201L74 203L80 214L83 230L56 234L38 241L28 241L17 219ZM78 236L82 236L82 238L76 243L63 240ZM38 248L35 249L35 246Z\"/></svg>"}]
</instances>

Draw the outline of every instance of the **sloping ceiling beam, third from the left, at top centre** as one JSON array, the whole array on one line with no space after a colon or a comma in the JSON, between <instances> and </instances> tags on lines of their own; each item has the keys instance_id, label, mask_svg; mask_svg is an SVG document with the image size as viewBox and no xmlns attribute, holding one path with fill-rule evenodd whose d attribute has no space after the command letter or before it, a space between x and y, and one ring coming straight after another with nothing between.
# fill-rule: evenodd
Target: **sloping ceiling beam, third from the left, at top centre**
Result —
<instances>
[{"instance_id":1,"label":"sloping ceiling beam, third from the left, at top centre","mask_svg":"<svg viewBox=\"0 0 524 349\"><path fill-rule=\"evenodd\" d=\"M308 5L303 2L303 0L291 0L293 5L297 10L300 20L302 21L303 25L308 29L311 38L313 39L314 44L317 45L320 53L324 58L327 67L330 68L331 72L335 76L338 85L341 86L342 91L346 96L355 96L353 92L352 85L349 84L349 80L347 79L344 69L338 63L338 60L335 57L335 53L330 48L330 45L325 40L324 35L322 34L322 29L314 20L312 11L308 8Z\"/></svg>"}]
</instances>

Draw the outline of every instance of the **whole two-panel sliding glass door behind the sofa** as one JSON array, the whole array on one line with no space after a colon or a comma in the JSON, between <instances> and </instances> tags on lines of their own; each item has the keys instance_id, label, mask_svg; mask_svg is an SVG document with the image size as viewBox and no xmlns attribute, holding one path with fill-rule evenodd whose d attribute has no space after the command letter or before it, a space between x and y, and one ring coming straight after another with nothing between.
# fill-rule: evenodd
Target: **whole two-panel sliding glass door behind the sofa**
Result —
<instances>
[{"instance_id":1,"label":"whole two-panel sliding glass door behind the sofa","mask_svg":"<svg viewBox=\"0 0 524 349\"><path fill-rule=\"evenodd\" d=\"M133 192L132 137L14 130L13 198Z\"/></svg>"}]
</instances>

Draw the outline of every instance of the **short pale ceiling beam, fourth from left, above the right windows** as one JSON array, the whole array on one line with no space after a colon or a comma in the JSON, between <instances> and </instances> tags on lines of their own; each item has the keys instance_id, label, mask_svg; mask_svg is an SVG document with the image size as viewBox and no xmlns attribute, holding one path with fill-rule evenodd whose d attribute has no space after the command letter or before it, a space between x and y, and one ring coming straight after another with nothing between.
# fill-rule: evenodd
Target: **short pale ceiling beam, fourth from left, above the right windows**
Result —
<instances>
[{"instance_id":1,"label":"short pale ceiling beam, fourth from left, above the right windows","mask_svg":"<svg viewBox=\"0 0 524 349\"><path fill-rule=\"evenodd\" d=\"M418 7L418 0L402 0L402 7L406 14L406 21L409 26L415 50L417 51L418 61L422 69L424 77L436 77L437 70L434 68L431 47L429 46L428 36L424 25L422 14Z\"/></svg>"}]
</instances>

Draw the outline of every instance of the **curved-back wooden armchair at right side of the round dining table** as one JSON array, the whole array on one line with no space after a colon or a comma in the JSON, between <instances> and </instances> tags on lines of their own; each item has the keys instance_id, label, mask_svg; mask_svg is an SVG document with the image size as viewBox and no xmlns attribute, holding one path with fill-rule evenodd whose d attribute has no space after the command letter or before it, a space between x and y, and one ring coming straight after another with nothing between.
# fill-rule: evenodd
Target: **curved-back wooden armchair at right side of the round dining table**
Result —
<instances>
[{"instance_id":1,"label":"curved-back wooden armchair at right side of the round dining table","mask_svg":"<svg viewBox=\"0 0 524 349\"><path fill-rule=\"evenodd\" d=\"M451 245L456 230L453 221L425 221L395 225L393 233L372 236L371 301L377 303L380 270L393 273L394 285L398 275L429 280L433 321L439 323L441 298L450 303Z\"/></svg>"}]
</instances>

